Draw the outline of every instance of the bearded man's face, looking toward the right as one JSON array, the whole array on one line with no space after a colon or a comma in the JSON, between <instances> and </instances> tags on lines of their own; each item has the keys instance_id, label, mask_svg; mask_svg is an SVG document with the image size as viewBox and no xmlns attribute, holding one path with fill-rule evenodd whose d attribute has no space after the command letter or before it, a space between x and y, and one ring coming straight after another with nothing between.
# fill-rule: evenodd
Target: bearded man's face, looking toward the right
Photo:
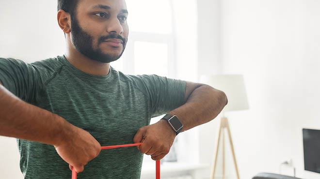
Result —
<instances>
[{"instance_id":1,"label":"bearded man's face, looking toward the right","mask_svg":"<svg viewBox=\"0 0 320 179\"><path fill-rule=\"evenodd\" d=\"M125 0L79 0L71 19L71 40L89 59L118 60L128 41Z\"/></svg>"}]
</instances>

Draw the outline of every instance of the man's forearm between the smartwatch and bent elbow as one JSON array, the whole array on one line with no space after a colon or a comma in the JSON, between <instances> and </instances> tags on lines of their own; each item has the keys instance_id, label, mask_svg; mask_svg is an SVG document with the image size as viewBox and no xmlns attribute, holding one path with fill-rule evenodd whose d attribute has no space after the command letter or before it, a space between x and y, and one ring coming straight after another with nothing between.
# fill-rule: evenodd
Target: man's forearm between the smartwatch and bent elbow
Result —
<instances>
[{"instance_id":1,"label":"man's forearm between the smartwatch and bent elbow","mask_svg":"<svg viewBox=\"0 0 320 179\"><path fill-rule=\"evenodd\" d=\"M217 117L226 104L224 92L201 85L193 90L185 104L169 114L176 115L184 125L182 131L186 131Z\"/></svg>"}]
</instances>

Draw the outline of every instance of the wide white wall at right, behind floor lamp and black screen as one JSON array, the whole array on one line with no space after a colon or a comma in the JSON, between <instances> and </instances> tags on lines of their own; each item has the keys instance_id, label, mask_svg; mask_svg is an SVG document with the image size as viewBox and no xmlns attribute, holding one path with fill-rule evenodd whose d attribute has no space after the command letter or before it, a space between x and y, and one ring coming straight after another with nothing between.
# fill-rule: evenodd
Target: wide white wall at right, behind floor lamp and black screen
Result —
<instances>
[{"instance_id":1,"label":"wide white wall at right, behind floor lamp and black screen","mask_svg":"<svg viewBox=\"0 0 320 179\"><path fill-rule=\"evenodd\" d=\"M209 5L212 0L198 2ZM319 179L320 174L304 170L302 128L320 129L320 1L220 3L221 26L216 28L220 29L222 73L244 75L250 105L250 110L226 114L240 178L251 179L258 172L278 173L280 163L292 159L298 177ZM210 11L212 25L216 9ZM207 158L212 158L209 151L213 150L217 121L202 126L201 141L209 143L202 155ZM214 130L212 137L209 130ZM235 179L228 157L227 176Z\"/></svg>"}]
</instances>

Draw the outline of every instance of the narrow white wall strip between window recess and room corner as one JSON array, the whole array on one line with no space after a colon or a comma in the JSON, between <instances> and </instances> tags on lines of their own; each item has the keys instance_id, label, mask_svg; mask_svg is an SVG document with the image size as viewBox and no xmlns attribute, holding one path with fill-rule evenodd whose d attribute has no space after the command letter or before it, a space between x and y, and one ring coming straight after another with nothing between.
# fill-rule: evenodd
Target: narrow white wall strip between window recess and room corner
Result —
<instances>
[{"instance_id":1,"label":"narrow white wall strip between window recess and room corner","mask_svg":"<svg viewBox=\"0 0 320 179\"><path fill-rule=\"evenodd\" d=\"M220 0L197 0L198 8L198 79L201 75L221 74L221 12ZM216 118L218 119L218 118ZM211 165L215 145L215 129L219 120L212 120L198 127L199 162ZM220 150L221 151L221 150ZM220 158L219 158L220 159ZM221 163L222 161L219 160ZM217 176L221 176L221 165L218 165ZM210 168L203 173L208 179Z\"/></svg>"}]
</instances>

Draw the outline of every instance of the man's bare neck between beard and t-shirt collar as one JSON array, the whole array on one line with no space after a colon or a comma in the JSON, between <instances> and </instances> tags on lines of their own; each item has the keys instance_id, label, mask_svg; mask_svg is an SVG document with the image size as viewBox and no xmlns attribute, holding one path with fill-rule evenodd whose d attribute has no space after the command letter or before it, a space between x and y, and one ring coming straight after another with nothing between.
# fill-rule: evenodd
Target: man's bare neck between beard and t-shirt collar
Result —
<instances>
[{"instance_id":1,"label":"man's bare neck between beard and t-shirt collar","mask_svg":"<svg viewBox=\"0 0 320 179\"><path fill-rule=\"evenodd\" d=\"M64 56L74 67L90 75L104 76L109 74L110 63L91 60L82 55L77 49L70 48L72 47L67 47Z\"/></svg>"}]
</instances>

